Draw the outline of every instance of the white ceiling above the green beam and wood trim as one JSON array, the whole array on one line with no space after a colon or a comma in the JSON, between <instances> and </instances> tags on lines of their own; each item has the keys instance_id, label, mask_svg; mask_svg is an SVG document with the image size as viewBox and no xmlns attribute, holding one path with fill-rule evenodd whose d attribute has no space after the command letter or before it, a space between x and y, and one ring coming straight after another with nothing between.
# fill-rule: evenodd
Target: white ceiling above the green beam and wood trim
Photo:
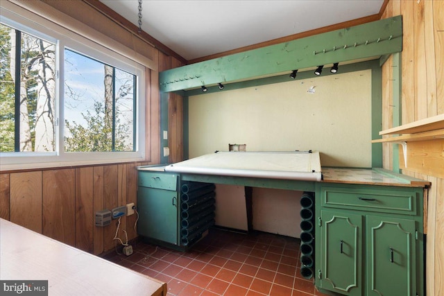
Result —
<instances>
[{"instance_id":1,"label":"white ceiling above the green beam and wood trim","mask_svg":"<svg viewBox=\"0 0 444 296\"><path fill-rule=\"evenodd\" d=\"M100 0L137 26L137 0ZM379 13L384 0L143 0L142 30L186 60Z\"/></svg>"}]
</instances>

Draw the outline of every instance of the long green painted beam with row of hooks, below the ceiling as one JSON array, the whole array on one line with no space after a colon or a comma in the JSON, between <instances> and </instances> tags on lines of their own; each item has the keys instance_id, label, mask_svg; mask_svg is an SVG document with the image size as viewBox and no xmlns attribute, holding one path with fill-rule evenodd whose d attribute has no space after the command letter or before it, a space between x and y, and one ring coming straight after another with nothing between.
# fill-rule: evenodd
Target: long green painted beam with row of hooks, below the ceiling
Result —
<instances>
[{"instance_id":1,"label":"long green painted beam with row of hooks, below the ceiling","mask_svg":"<svg viewBox=\"0 0 444 296\"><path fill-rule=\"evenodd\" d=\"M402 17L398 16L162 71L160 91L249 80L400 51Z\"/></svg>"}]
</instances>

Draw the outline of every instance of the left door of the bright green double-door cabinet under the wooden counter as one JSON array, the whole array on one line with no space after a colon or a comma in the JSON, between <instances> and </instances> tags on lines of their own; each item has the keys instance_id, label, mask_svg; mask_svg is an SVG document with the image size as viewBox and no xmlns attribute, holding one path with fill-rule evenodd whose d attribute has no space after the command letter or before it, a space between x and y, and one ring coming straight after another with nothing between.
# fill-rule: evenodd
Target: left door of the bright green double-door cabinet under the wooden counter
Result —
<instances>
[{"instance_id":1,"label":"left door of the bright green double-door cabinet under the wooden counter","mask_svg":"<svg viewBox=\"0 0 444 296\"><path fill-rule=\"evenodd\" d=\"M362 294L362 219L341 211L321 211L321 288Z\"/></svg>"}]
</instances>

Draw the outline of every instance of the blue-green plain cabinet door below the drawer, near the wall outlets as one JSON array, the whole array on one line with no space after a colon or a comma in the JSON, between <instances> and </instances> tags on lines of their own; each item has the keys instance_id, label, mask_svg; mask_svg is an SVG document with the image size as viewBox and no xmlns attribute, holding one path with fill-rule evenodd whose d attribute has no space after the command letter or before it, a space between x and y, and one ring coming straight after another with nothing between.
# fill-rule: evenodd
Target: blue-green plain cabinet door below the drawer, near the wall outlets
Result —
<instances>
[{"instance_id":1,"label":"blue-green plain cabinet door below the drawer, near the wall outlets","mask_svg":"<svg viewBox=\"0 0 444 296\"><path fill-rule=\"evenodd\" d=\"M178 195L176 191L140 187L137 191L137 233L178 244Z\"/></svg>"}]
</instances>

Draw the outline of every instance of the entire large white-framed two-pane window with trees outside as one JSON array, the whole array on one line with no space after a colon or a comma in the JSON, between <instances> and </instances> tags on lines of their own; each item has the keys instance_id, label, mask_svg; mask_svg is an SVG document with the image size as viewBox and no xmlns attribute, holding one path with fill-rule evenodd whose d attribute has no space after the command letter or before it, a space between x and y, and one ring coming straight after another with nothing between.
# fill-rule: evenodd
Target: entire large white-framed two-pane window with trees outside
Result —
<instances>
[{"instance_id":1,"label":"entire large white-framed two-pane window with trees outside","mask_svg":"<svg viewBox=\"0 0 444 296\"><path fill-rule=\"evenodd\" d=\"M144 159L144 67L51 26L2 15L2 169Z\"/></svg>"}]
</instances>

